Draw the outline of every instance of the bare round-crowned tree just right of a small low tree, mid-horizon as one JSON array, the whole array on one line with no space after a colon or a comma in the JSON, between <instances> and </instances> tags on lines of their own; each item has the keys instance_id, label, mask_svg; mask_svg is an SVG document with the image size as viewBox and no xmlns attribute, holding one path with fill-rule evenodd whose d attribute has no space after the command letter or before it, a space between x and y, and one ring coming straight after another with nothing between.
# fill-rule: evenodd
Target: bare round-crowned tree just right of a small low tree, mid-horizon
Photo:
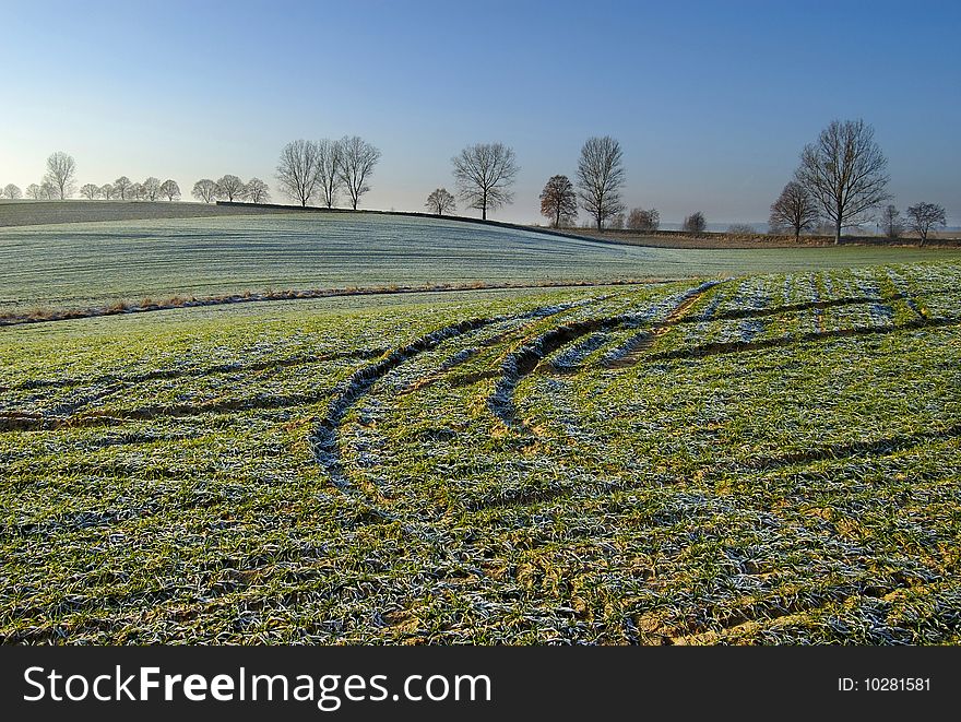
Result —
<instances>
[{"instance_id":1,"label":"bare round-crowned tree just right of a small low tree, mid-horizon","mask_svg":"<svg viewBox=\"0 0 961 722\"><path fill-rule=\"evenodd\" d=\"M477 143L468 145L460 155L451 158L458 193L467 208L480 211L487 220L487 209L497 209L511 203L514 194L510 187L518 175L514 152L503 143Z\"/></svg>"}]
</instances>

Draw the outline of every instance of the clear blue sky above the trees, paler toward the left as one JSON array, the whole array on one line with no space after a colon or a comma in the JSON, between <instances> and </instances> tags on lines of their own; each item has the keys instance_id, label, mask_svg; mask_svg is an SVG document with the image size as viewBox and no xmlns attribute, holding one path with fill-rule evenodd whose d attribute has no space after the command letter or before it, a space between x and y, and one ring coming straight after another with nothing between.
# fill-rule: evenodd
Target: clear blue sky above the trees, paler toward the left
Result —
<instances>
[{"instance_id":1,"label":"clear blue sky above the trees, paler toward the left","mask_svg":"<svg viewBox=\"0 0 961 722\"><path fill-rule=\"evenodd\" d=\"M71 153L78 180L233 173L272 186L297 138L382 152L363 208L423 210L450 158L500 141L538 221L591 135L628 206L763 222L805 143L864 118L900 209L961 224L961 2L0 0L0 185Z\"/></svg>"}]
</instances>

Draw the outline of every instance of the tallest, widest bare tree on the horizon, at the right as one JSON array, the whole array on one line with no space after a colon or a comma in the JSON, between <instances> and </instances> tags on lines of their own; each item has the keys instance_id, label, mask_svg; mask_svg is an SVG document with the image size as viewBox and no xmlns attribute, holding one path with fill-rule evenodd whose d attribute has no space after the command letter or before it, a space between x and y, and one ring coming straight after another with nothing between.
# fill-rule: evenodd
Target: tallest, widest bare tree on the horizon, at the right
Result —
<instances>
[{"instance_id":1,"label":"tallest, widest bare tree on the horizon, at the right","mask_svg":"<svg viewBox=\"0 0 961 722\"><path fill-rule=\"evenodd\" d=\"M840 244L842 228L864 223L871 209L890 198L887 167L874 128L861 119L833 120L817 143L802 151L795 178L833 222Z\"/></svg>"}]
</instances>

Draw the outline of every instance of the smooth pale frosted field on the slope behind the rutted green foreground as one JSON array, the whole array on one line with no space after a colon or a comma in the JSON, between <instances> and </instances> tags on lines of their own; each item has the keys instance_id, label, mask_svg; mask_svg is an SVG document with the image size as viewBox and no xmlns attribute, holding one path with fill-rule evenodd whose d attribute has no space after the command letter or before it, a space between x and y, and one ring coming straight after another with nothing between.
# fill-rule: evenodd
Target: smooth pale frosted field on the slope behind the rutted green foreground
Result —
<instances>
[{"instance_id":1,"label":"smooth pale frosted field on the slope behind the rutted green foreground","mask_svg":"<svg viewBox=\"0 0 961 722\"><path fill-rule=\"evenodd\" d=\"M643 248L364 214L37 225L0 228L0 315L271 289L614 282L958 258L961 250Z\"/></svg>"}]
</instances>

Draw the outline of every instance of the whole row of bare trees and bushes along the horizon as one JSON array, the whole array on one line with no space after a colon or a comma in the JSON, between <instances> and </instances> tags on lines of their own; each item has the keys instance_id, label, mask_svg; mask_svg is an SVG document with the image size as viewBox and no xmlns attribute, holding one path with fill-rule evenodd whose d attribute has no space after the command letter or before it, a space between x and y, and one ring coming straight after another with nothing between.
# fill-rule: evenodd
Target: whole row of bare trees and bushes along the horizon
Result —
<instances>
[{"instance_id":1,"label":"whole row of bare trees and bushes along the horizon","mask_svg":"<svg viewBox=\"0 0 961 722\"><path fill-rule=\"evenodd\" d=\"M346 193L351 208L357 210L361 197L370 191L369 181L380 156L376 146L358 135L340 140L296 140L282 149L276 179L283 193L301 206L334 208L340 193ZM451 165L458 197L466 208L480 211L483 220L487 220L488 211L513 202L512 187L520 173L513 149L503 143L468 145L451 158ZM76 163L58 151L47 158L43 182L28 186L26 196L48 200L70 198L75 177ZM590 138L581 146L576 184L562 174L548 178L539 196L541 213L555 227L571 225L579 210L583 210L598 232L605 227L657 230L661 218L656 209L633 208L625 215L627 209L621 193L626 177L620 143L609 135ZM798 239L802 233L830 224L838 244L844 229L878 217L875 214L891 198L887 191L889 181L887 158L874 140L874 129L861 119L834 120L815 143L802 151L792 180L771 204L769 230L791 230ZM166 198L174 201L180 198L176 181L161 182L154 177L134 184L121 176L105 186L86 184L80 192L90 200ZM2 194L9 199L22 197L13 184L5 186ZM265 203L270 200L270 189L264 181L251 178L244 182L234 175L218 180L198 180L191 194L204 203L216 200ZM456 199L447 188L439 187L427 197L425 206L437 215L450 215L456 213ZM946 213L940 205L921 201L906 209L906 220L902 221L900 211L889 204L880 210L879 227L881 225L891 238L911 229L924 244L934 227L946 225ZM691 213L683 228L703 233L704 214ZM754 229L736 225L728 232L752 233Z\"/></svg>"}]
</instances>

